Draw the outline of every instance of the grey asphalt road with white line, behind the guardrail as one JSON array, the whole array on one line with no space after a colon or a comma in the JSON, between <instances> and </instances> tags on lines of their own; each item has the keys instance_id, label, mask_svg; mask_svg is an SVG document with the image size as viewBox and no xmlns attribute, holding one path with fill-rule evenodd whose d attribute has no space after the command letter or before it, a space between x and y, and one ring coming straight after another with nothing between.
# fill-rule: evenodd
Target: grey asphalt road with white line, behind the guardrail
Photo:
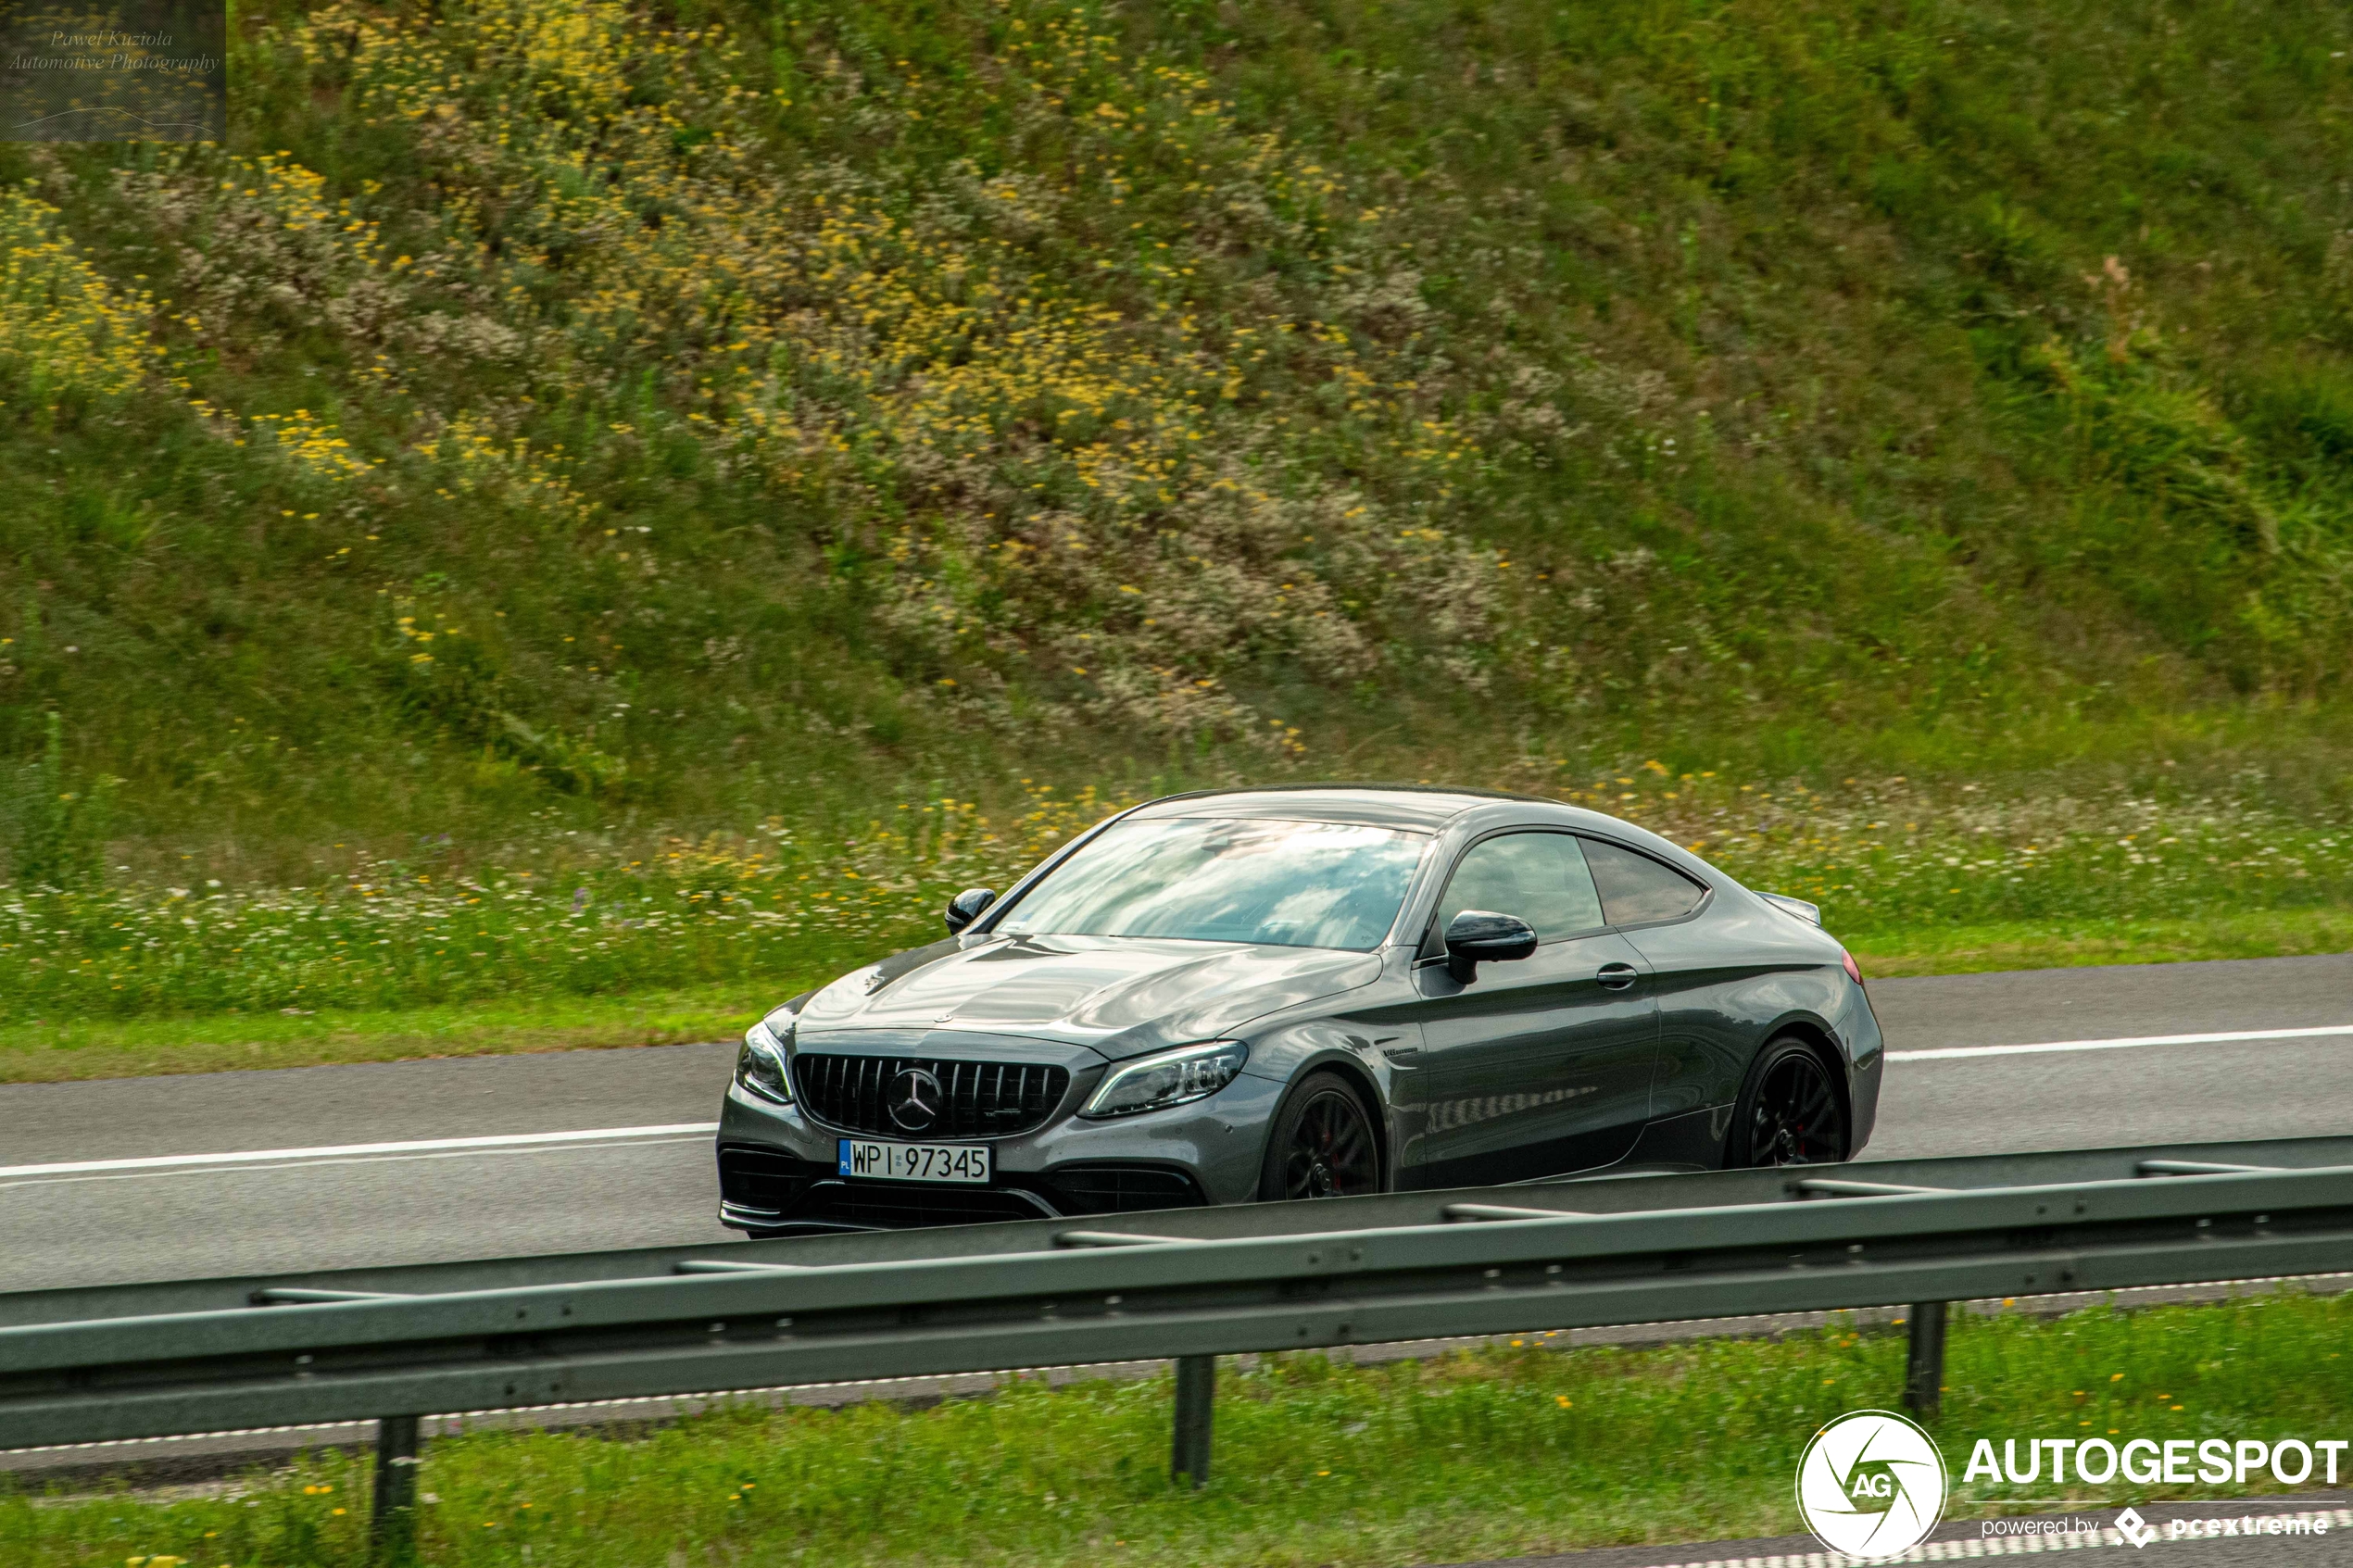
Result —
<instances>
[{"instance_id":1,"label":"grey asphalt road with white line, behind the guardrail","mask_svg":"<svg viewBox=\"0 0 2353 1568\"><path fill-rule=\"evenodd\" d=\"M2353 1128L2353 954L1878 980L1871 997L1897 1060L1866 1159ZM2242 1039L2080 1044L2177 1034ZM2000 1051L2052 1041L2066 1048ZM725 1241L696 1128L732 1058L5 1086L0 1288Z\"/></svg>"}]
</instances>

